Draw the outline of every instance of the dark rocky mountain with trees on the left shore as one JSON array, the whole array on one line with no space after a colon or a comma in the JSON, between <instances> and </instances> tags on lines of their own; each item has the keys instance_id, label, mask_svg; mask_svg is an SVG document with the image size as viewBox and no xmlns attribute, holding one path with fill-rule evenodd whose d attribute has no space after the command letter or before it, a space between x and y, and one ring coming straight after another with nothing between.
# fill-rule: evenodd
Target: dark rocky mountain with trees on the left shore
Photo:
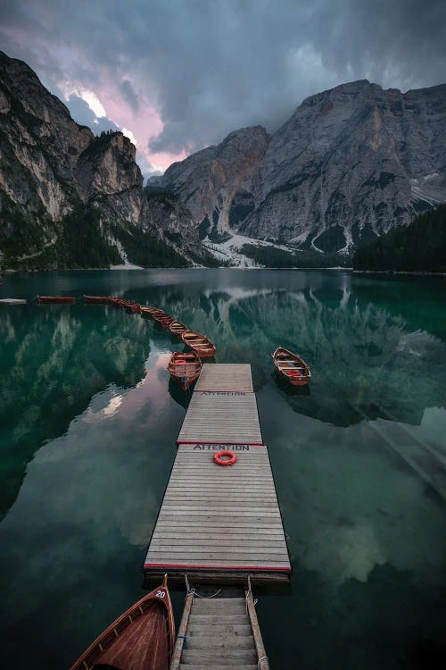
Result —
<instances>
[{"instance_id":1,"label":"dark rocky mountain with trees on the left shore","mask_svg":"<svg viewBox=\"0 0 446 670\"><path fill-rule=\"evenodd\" d=\"M151 194L120 132L95 137L0 52L0 266L206 263L178 197Z\"/></svg>"}]
</instances>

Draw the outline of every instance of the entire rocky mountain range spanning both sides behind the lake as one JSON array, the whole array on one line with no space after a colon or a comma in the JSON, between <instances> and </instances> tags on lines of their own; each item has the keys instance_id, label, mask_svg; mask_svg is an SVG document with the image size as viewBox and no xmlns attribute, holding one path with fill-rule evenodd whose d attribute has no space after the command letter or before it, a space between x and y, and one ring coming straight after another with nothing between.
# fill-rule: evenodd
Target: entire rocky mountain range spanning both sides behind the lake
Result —
<instances>
[{"instance_id":1,"label":"entire rocky mountain range spanning both sides behind the lake","mask_svg":"<svg viewBox=\"0 0 446 670\"><path fill-rule=\"evenodd\" d=\"M218 248L231 235L350 254L446 201L444 155L446 84L401 93L357 80L305 98L272 134L232 131L144 188L123 133L95 136L0 52L0 266L231 263Z\"/></svg>"}]
</instances>

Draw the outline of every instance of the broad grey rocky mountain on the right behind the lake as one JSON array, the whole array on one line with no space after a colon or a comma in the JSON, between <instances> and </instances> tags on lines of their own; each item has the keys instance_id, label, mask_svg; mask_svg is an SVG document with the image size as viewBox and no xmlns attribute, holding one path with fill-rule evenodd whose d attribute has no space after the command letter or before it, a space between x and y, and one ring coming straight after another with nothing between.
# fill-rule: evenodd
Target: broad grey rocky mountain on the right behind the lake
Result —
<instances>
[{"instance_id":1,"label":"broad grey rocky mountain on the right behind the lake","mask_svg":"<svg viewBox=\"0 0 446 670\"><path fill-rule=\"evenodd\" d=\"M350 250L446 200L446 85L367 80L310 96L268 137L231 133L158 180L194 222L302 249Z\"/></svg>"}]
</instances>

